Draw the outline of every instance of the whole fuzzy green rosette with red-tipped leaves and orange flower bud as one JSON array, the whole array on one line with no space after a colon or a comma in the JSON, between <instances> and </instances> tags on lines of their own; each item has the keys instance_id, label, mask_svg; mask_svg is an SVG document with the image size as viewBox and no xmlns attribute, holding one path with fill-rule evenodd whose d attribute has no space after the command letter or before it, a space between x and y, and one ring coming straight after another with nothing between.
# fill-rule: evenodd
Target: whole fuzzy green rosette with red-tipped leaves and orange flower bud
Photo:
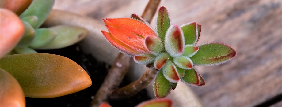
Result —
<instances>
[{"instance_id":1,"label":"whole fuzzy green rosette with red-tipped leaves and orange flower bud","mask_svg":"<svg viewBox=\"0 0 282 107\"><path fill-rule=\"evenodd\" d=\"M154 78L156 98L163 98L175 89L181 80L186 84L202 86L202 76L194 65L218 65L231 60L236 51L219 42L196 45L201 25L196 22L181 26L170 24L165 7L157 15L157 33L138 15L131 18L104 20L109 33L102 31L106 39L134 61L159 70Z\"/></svg>"}]
</instances>

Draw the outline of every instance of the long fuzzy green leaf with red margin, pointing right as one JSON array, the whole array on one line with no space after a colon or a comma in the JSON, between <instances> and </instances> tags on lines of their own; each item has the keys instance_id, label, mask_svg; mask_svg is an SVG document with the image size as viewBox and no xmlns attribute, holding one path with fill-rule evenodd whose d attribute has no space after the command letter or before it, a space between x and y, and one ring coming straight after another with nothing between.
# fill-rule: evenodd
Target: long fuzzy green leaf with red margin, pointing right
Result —
<instances>
[{"instance_id":1,"label":"long fuzzy green leaf with red margin, pointing right","mask_svg":"<svg viewBox=\"0 0 282 107\"><path fill-rule=\"evenodd\" d=\"M236 51L223 43L211 42L199 46L198 52L190 57L195 65L218 65L231 60Z\"/></svg>"}]
</instances>

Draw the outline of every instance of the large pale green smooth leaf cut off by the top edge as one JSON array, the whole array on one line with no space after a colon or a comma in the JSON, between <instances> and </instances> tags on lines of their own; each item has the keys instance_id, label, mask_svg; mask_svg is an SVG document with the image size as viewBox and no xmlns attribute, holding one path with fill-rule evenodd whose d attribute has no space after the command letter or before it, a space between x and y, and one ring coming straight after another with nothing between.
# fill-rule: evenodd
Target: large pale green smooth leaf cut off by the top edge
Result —
<instances>
[{"instance_id":1,"label":"large pale green smooth leaf cut off by the top edge","mask_svg":"<svg viewBox=\"0 0 282 107\"><path fill-rule=\"evenodd\" d=\"M38 28L48 17L55 0L33 0L29 8L20 15L21 18L27 16L37 16L38 21L34 28Z\"/></svg>"}]
</instances>

